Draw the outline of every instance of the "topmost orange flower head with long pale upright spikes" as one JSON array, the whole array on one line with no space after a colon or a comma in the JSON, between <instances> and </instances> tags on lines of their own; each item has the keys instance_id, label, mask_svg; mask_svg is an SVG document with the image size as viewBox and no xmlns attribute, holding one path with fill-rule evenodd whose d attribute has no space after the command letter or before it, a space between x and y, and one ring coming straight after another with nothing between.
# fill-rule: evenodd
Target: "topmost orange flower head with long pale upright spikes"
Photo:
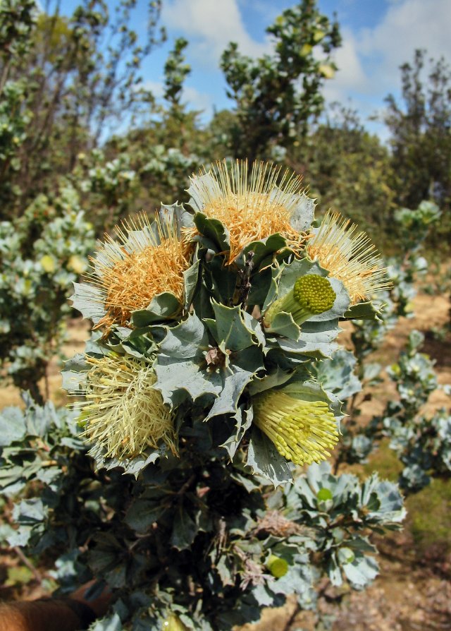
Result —
<instances>
[{"instance_id":1,"label":"topmost orange flower head with long pale upright spikes","mask_svg":"<svg viewBox=\"0 0 451 631\"><path fill-rule=\"evenodd\" d=\"M208 177L206 177L208 175ZM230 234L228 264L252 241L280 232L289 241L299 241L290 218L299 204L301 176L281 167L254 162L249 174L247 161L191 178L189 192L206 217L219 220Z\"/></svg>"}]
</instances>

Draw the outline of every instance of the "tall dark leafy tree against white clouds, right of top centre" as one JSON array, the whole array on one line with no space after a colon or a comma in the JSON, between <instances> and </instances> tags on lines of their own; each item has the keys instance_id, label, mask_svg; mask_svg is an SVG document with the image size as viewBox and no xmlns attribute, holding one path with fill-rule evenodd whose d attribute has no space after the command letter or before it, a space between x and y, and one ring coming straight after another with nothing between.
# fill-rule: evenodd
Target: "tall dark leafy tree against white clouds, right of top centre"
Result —
<instances>
[{"instance_id":1,"label":"tall dark leafy tree against white clouds, right of top centre","mask_svg":"<svg viewBox=\"0 0 451 631\"><path fill-rule=\"evenodd\" d=\"M249 162L305 136L323 107L321 87L336 69L330 54L341 42L338 23L319 12L316 0L284 11L266 32L273 37L271 54L252 59L231 42L221 58L227 95L236 104L233 152Z\"/></svg>"}]
</instances>

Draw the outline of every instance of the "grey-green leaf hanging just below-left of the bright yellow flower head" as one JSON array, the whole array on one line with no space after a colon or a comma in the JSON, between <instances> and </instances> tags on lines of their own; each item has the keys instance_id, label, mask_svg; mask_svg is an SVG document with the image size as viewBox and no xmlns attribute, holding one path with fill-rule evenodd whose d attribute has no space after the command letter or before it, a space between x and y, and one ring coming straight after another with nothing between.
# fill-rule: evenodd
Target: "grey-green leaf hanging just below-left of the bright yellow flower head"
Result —
<instances>
[{"instance_id":1,"label":"grey-green leaf hanging just below-left of the bright yellow flower head","mask_svg":"<svg viewBox=\"0 0 451 631\"><path fill-rule=\"evenodd\" d=\"M254 474L264 476L274 486L292 480L290 465L257 427L252 428L246 464L252 468Z\"/></svg>"}]
</instances>

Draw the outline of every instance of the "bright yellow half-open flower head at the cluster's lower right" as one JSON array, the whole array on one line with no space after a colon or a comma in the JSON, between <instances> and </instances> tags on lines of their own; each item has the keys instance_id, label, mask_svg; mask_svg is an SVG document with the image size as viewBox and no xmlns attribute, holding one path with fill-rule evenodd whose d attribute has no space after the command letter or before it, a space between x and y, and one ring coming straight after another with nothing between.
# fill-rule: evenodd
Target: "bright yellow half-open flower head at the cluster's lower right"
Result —
<instances>
[{"instance_id":1,"label":"bright yellow half-open flower head at the cluster's lower right","mask_svg":"<svg viewBox=\"0 0 451 631\"><path fill-rule=\"evenodd\" d=\"M253 401L254 423L295 464L326 460L338 442L335 417L324 401L304 401L271 390Z\"/></svg>"}]
</instances>

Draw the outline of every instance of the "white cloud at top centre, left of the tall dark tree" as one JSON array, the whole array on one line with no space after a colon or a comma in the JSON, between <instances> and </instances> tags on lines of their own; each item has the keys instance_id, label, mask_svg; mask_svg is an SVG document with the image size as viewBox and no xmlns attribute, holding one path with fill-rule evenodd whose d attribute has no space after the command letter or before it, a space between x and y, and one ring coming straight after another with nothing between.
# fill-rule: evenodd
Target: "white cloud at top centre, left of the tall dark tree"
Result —
<instances>
[{"instance_id":1,"label":"white cloud at top centre, left of the tall dark tree","mask_svg":"<svg viewBox=\"0 0 451 631\"><path fill-rule=\"evenodd\" d=\"M217 68L229 42L237 42L240 51L251 56L268 51L268 42L250 37L237 0L168 0L163 3L162 19L190 40L192 55L205 66Z\"/></svg>"}]
</instances>

